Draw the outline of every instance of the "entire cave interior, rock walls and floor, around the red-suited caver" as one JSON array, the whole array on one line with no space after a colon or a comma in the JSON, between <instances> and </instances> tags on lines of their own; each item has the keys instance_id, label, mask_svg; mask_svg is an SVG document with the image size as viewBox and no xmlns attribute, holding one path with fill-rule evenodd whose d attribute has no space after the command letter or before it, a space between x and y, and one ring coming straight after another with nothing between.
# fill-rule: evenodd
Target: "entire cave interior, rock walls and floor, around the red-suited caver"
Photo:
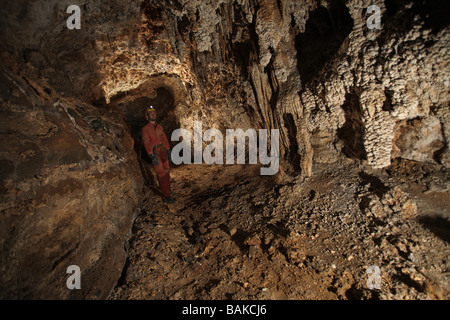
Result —
<instances>
[{"instance_id":1,"label":"entire cave interior, rock walls and floor, around the red-suited caver","mask_svg":"<svg viewBox=\"0 0 450 320\"><path fill-rule=\"evenodd\" d=\"M449 299L448 1L70 5L0 7L0 299ZM150 105L279 130L277 173L247 143L164 202Z\"/></svg>"}]
</instances>

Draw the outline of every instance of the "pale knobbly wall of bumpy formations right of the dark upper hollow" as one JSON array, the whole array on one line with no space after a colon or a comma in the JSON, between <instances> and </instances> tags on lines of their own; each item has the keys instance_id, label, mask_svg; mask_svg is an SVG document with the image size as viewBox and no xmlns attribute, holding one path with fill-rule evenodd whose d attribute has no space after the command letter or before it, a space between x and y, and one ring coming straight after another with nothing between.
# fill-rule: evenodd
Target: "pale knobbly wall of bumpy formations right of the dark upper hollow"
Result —
<instances>
[{"instance_id":1,"label":"pale knobbly wall of bumpy formations right of the dark upper hollow","mask_svg":"<svg viewBox=\"0 0 450 320\"><path fill-rule=\"evenodd\" d=\"M373 167L386 167L394 157L448 166L448 139L444 143L443 135L448 132L449 33L442 20L435 20L446 4L434 10L420 1L385 1L387 6L380 4L381 29L369 30L369 2L347 5L352 31L316 79L304 86L301 96L308 123L314 124L311 130L335 136L349 119L361 118L361 131L355 134L362 136L361 151ZM342 113L349 95L357 114ZM315 108L319 110L311 112ZM418 127L397 129L413 119L410 123ZM427 137L411 133L429 122L434 126ZM332 140L336 150L346 147L344 140Z\"/></svg>"}]
</instances>

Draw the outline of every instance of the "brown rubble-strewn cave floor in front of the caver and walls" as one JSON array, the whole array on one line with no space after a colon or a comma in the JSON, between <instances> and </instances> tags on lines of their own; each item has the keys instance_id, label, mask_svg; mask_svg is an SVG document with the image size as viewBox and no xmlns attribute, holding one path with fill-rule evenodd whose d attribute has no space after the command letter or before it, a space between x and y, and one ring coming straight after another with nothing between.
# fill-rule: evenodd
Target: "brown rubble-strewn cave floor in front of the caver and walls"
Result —
<instances>
[{"instance_id":1,"label":"brown rubble-strewn cave floor in front of the caver and walls","mask_svg":"<svg viewBox=\"0 0 450 320\"><path fill-rule=\"evenodd\" d=\"M173 168L177 201L146 189L109 299L449 299L449 177L407 160L283 184L257 166Z\"/></svg>"}]
</instances>

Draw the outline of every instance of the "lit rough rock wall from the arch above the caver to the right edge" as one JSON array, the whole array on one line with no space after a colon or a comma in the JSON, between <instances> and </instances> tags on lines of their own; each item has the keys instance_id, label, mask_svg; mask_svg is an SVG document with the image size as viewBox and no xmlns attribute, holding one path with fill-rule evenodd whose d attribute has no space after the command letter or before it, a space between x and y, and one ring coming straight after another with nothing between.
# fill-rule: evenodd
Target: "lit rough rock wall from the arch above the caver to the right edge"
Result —
<instances>
[{"instance_id":1,"label":"lit rough rock wall from the arch above the caver to the right edge","mask_svg":"<svg viewBox=\"0 0 450 320\"><path fill-rule=\"evenodd\" d=\"M428 146L413 156L406 151L410 145L401 145L410 133L394 130L401 121L420 125L430 118L439 120L441 129L427 139L442 141L448 131L444 3L381 3L380 30L366 26L369 5L143 2L144 28L136 39L151 50L117 38L113 48L119 50L110 50L100 64L101 86L108 99L150 75L171 74L181 80L181 89L162 80L159 85L185 93L175 109L181 126L201 119L216 127L279 128L283 169L305 175L313 161L333 162L343 148L375 168L397 156L447 164L445 143L418 142ZM224 110L229 117L221 116Z\"/></svg>"}]
</instances>

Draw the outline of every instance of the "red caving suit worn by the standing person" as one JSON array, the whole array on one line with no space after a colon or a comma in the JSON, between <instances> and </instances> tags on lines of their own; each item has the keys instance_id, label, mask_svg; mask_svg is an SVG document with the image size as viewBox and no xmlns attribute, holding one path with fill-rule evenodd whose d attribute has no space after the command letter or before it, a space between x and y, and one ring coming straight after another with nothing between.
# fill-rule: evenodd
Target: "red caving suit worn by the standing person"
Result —
<instances>
[{"instance_id":1,"label":"red caving suit worn by the standing person","mask_svg":"<svg viewBox=\"0 0 450 320\"><path fill-rule=\"evenodd\" d=\"M170 149L170 145L163 127L157 123L148 123L142 128L142 139L148 155L154 154L158 158L159 163L154 167L163 197L167 198L170 195L170 169L167 156L167 150Z\"/></svg>"}]
</instances>

